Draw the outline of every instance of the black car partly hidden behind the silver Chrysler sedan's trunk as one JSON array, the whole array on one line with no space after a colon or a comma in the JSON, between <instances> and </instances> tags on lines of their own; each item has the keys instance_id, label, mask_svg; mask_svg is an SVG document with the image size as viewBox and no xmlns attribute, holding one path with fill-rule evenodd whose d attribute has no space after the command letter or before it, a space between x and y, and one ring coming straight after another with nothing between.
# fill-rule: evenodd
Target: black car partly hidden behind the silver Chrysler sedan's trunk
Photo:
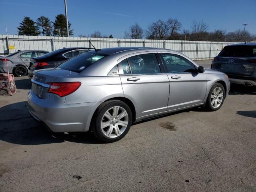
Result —
<instances>
[{"instance_id":1,"label":"black car partly hidden behind the silver Chrysler sedan's trunk","mask_svg":"<svg viewBox=\"0 0 256 192\"><path fill-rule=\"evenodd\" d=\"M68 60L69 58L78 56L80 54L86 53L92 48L75 47L75 48L63 48L52 51L41 57L31 58L28 67L28 78L32 78L34 70L54 68L55 66L61 64L62 62Z\"/></svg>"}]
</instances>

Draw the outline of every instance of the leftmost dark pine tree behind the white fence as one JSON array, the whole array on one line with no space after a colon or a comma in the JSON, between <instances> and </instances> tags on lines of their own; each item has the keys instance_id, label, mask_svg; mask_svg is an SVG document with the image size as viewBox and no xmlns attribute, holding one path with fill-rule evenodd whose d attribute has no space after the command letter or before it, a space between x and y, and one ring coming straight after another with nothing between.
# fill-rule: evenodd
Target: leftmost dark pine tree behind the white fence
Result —
<instances>
[{"instance_id":1,"label":"leftmost dark pine tree behind the white fence","mask_svg":"<svg viewBox=\"0 0 256 192\"><path fill-rule=\"evenodd\" d=\"M18 28L18 35L33 35L38 36L40 34L39 27L35 25L30 17L24 17L24 20L20 23Z\"/></svg>"}]
</instances>

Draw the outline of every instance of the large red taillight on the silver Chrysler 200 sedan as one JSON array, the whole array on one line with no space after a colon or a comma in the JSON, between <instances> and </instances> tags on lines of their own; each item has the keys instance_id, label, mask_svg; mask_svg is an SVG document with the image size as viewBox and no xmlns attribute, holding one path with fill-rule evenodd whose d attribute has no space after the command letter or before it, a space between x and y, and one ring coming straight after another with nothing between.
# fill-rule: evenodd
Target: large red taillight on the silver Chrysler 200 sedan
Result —
<instances>
[{"instance_id":1,"label":"large red taillight on the silver Chrysler 200 sedan","mask_svg":"<svg viewBox=\"0 0 256 192\"><path fill-rule=\"evenodd\" d=\"M47 84L51 85L48 93L54 93L60 97L64 97L75 92L80 87L81 82L58 82Z\"/></svg>"}]
</instances>

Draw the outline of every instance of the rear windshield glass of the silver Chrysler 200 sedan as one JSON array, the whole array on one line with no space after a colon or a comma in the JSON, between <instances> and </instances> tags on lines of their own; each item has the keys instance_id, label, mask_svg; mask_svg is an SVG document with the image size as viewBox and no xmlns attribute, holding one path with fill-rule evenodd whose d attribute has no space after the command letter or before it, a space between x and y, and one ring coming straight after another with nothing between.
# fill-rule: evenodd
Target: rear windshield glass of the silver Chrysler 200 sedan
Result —
<instances>
[{"instance_id":1,"label":"rear windshield glass of the silver Chrysler 200 sedan","mask_svg":"<svg viewBox=\"0 0 256 192\"><path fill-rule=\"evenodd\" d=\"M80 73L88 66L104 58L105 56L107 55L98 54L95 51L91 51L90 53L88 52L86 54L81 54L79 56L67 60L66 62L58 66L58 68Z\"/></svg>"}]
</instances>

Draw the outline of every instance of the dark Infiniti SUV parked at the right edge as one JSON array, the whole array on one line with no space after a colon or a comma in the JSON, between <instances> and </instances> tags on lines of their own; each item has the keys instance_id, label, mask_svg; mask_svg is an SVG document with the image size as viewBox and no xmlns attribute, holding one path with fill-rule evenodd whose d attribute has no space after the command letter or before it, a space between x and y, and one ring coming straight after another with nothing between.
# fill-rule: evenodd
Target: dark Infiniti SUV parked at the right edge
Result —
<instances>
[{"instance_id":1,"label":"dark Infiniti SUV parked at the right edge","mask_svg":"<svg viewBox=\"0 0 256 192\"><path fill-rule=\"evenodd\" d=\"M241 43L225 46L213 58L212 69L224 72L234 84L256 86L256 44Z\"/></svg>"}]
</instances>

